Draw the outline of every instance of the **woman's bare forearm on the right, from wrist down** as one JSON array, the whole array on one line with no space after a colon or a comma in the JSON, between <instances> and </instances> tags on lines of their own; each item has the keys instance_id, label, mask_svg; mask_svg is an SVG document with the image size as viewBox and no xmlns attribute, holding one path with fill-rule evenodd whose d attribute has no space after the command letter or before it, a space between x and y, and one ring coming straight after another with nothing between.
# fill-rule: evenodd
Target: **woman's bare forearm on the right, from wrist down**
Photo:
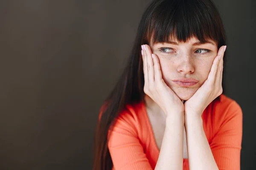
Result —
<instances>
[{"instance_id":1,"label":"woman's bare forearm on the right, from wrist down","mask_svg":"<svg viewBox=\"0 0 256 170\"><path fill-rule=\"evenodd\" d=\"M218 170L199 114L185 113L185 129L190 170Z\"/></svg>"}]
</instances>

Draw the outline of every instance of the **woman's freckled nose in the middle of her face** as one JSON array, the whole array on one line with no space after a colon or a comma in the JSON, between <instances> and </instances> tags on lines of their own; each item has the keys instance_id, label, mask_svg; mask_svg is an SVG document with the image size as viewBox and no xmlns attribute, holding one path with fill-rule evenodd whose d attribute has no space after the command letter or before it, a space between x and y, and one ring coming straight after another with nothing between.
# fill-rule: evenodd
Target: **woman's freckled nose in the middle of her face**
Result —
<instances>
[{"instance_id":1,"label":"woman's freckled nose in the middle of her face","mask_svg":"<svg viewBox=\"0 0 256 170\"><path fill-rule=\"evenodd\" d=\"M189 55L183 55L178 58L179 63L177 67L177 71L186 75L186 74L191 74L195 71L194 68L194 61L192 56Z\"/></svg>"}]
</instances>

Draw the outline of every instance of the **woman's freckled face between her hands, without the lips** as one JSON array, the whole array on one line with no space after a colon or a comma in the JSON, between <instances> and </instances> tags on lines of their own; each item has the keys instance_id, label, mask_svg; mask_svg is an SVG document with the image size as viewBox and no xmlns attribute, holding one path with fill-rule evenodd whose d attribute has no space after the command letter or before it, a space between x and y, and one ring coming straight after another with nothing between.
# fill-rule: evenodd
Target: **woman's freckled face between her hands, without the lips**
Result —
<instances>
[{"instance_id":1,"label":"woman's freckled face between her hands, without the lips","mask_svg":"<svg viewBox=\"0 0 256 170\"><path fill-rule=\"evenodd\" d=\"M188 100L208 78L218 47L211 43L196 44L195 37L186 43L156 43L150 45L152 53L160 60L163 80L181 100ZM213 43L213 44L212 44ZM192 86L175 84L177 78L194 78L198 83Z\"/></svg>"}]
</instances>

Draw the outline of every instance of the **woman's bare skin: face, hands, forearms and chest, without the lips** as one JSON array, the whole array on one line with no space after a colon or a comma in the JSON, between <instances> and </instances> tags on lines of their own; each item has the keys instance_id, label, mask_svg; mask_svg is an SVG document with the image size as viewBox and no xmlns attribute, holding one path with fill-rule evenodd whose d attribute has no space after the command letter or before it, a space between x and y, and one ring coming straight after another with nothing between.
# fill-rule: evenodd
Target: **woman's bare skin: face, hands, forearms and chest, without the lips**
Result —
<instances>
[{"instance_id":1,"label":"woman's bare skin: face, hands, forearms and chest, without the lips","mask_svg":"<svg viewBox=\"0 0 256 170\"><path fill-rule=\"evenodd\" d=\"M158 146L161 144L156 169L182 169L183 127L187 135L189 168L218 169L204 134L201 114L222 93L226 47L218 49L215 43L192 45L197 41L191 38L178 45L142 46L148 117L154 134L163 134L155 135ZM169 53L161 52L159 48L163 47L171 48L164 50ZM199 82L191 87L182 87L172 83L175 78L195 78ZM156 122L154 118L162 122ZM166 124L164 128L160 126L162 123Z\"/></svg>"}]
</instances>

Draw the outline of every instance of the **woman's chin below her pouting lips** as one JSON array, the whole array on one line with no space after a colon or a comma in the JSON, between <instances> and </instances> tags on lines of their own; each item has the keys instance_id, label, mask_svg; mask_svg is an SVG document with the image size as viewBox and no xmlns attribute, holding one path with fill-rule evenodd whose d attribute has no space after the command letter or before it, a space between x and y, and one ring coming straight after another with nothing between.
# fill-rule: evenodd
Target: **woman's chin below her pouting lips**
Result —
<instances>
[{"instance_id":1,"label":"woman's chin below her pouting lips","mask_svg":"<svg viewBox=\"0 0 256 170\"><path fill-rule=\"evenodd\" d=\"M191 98L198 88L189 88L189 87L179 87L172 88L173 92L180 98L180 100L187 101Z\"/></svg>"}]
</instances>

